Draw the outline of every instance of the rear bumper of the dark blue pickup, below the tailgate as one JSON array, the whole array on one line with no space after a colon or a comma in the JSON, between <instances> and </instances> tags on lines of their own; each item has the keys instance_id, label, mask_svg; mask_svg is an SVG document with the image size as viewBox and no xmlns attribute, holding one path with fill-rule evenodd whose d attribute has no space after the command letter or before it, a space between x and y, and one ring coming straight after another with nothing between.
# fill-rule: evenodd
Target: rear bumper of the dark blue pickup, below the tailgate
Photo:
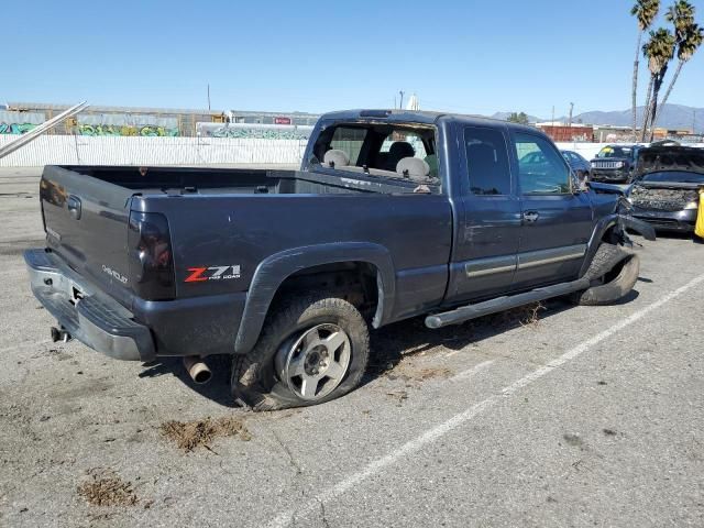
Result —
<instances>
[{"instance_id":1,"label":"rear bumper of the dark blue pickup, below the tailgate","mask_svg":"<svg viewBox=\"0 0 704 528\"><path fill-rule=\"evenodd\" d=\"M29 250L24 262L32 293L74 338L117 360L151 361L156 356L150 329L135 322L114 299L91 292L53 253Z\"/></svg>"}]
</instances>

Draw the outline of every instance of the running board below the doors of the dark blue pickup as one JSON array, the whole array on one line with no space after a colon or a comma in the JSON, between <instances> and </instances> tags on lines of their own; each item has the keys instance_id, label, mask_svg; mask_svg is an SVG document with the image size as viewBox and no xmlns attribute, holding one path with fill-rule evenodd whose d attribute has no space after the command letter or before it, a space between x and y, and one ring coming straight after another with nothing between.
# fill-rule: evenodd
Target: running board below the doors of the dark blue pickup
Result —
<instances>
[{"instance_id":1,"label":"running board below the doors of the dark blue pickup","mask_svg":"<svg viewBox=\"0 0 704 528\"><path fill-rule=\"evenodd\" d=\"M476 305L462 306L451 311L443 311L442 314L428 316L426 317L426 327L436 329L449 327L450 324L459 324L488 314L509 310L529 302L537 302L551 297L560 297L561 295L587 289L590 286L590 279L583 277L578 280L572 280L571 283L560 283L554 286L536 288L531 292L526 292L525 294L497 297L496 299L485 300L484 302L477 302Z\"/></svg>"}]
</instances>

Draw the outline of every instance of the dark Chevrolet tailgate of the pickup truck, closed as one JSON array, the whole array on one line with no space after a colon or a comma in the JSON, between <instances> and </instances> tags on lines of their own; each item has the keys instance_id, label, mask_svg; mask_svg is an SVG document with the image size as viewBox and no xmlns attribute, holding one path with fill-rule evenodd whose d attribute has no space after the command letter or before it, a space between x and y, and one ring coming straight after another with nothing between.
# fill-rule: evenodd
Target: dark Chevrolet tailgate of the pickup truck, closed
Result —
<instances>
[{"instance_id":1,"label":"dark Chevrolet tailgate of the pickup truck, closed","mask_svg":"<svg viewBox=\"0 0 704 528\"><path fill-rule=\"evenodd\" d=\"M47 246L128 308L128 226L133 194L57 166L44 168L40 185Z\"/></svg>"}]
</instances>

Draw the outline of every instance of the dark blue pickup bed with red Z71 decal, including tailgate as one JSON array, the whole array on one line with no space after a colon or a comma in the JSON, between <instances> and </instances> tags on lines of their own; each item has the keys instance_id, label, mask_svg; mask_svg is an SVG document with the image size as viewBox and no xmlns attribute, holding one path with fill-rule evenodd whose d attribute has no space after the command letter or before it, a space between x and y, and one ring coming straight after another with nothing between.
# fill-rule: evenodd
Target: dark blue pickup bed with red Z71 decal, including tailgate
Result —
<instances>
[{"instance_id":1,"label":"dark blue pickup bed with red Z71 decal, including tailgate","mask_svg":"<svg viewBox=\"0 0 704 528\"><path fill-rule=\"evenodd\" d=\"M74 307L92 292L114 299L158 327L156 353L229 353L260 264L285 264L289 253L315 261L321 248L346 248L349 260L363 246L402 290L387 319L439 304L452 245L448 198L415 193L415 182L341 173L47 166L46 248L79 277L63 298ZM222 273L204 278L210 270Z\"/></svg>"}]
</instances>

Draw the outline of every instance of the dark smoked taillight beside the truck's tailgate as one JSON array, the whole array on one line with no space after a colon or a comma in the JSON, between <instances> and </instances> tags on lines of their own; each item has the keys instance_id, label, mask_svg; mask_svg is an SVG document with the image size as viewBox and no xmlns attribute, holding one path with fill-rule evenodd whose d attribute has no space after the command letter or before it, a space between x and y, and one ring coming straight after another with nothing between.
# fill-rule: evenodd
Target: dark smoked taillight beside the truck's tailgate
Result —
<instances>
[{"instance_id":1,"label":"dark smoked taillight beside the truck's tailgate","mask_svg":"<svg viewBox=\"0 0 704 528\"><path fill-rule=\"evenodd\" d=\"M158 212L130 212L128 235L134 293L145 300L176 297L168 221Z\"/></svg>"}]
</instances>

